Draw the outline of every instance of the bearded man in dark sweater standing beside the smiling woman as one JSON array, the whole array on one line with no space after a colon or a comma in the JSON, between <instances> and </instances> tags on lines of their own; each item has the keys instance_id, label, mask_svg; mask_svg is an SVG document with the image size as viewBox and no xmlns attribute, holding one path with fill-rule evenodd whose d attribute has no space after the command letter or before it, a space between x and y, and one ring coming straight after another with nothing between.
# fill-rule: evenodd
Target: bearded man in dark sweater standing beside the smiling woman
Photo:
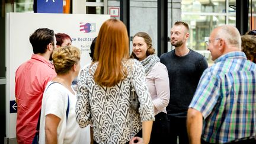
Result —
<instances>
[{"instance_id":1,"label":"bearded man in dark sweater standing beside the smiling woman","mask_svg":"<svg viewBox=\"0 0 256 144\"><path fill-rule=\"evenodd\" d=\"M169 75L170 99L167 106L170 138L168 143L188 143L187 110L204 69L208 68L206 58L188 49L186 41L188 24L177 21L171 28L171 44L174 50L160 56L160 62L167 66Z\"/></svg>"}]
</instances>

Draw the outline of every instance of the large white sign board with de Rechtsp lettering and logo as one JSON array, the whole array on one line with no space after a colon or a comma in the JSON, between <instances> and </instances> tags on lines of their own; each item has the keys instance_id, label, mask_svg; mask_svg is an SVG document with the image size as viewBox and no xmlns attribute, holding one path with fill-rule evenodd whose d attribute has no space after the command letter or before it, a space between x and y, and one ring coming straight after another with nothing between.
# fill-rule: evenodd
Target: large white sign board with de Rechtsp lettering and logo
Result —
<instances>
[{"instance_id":1,"label":"large white sign board with de Rechtsp lettering and logo","mask_svg":"<svg viewBox=\"0 0 256 144\"><path fill-rule=\"evenodd\" d=\"M110 15L8 13L6 18L6 132L8 138L14 138L17 113L10 113L10 101L15 100L15 71L33 53L30 34L37 28L68 34L72 38L72 45L81 49L81 66L84 66L91 62L88 53L92 40Z\"/></svg>"}]
</instances>

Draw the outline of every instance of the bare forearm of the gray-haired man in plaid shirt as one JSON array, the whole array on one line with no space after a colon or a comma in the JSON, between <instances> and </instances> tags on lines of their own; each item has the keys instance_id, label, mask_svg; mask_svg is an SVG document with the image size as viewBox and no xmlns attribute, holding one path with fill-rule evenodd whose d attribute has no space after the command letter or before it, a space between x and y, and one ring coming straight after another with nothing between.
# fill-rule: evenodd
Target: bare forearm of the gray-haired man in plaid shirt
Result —
<instances>
[{"instance_id":1,"label":"bare forearm of the gray-haired man in plaid shirt","mask_svg":"<svg viewBox=\"0 0 256 144\"><path fill-rule=\"evenodd\" d=\"M193 108L188 108L187 132L190 144L201 143L201 131L203 128L203 116Z\"/></svg>"}]
</instances>

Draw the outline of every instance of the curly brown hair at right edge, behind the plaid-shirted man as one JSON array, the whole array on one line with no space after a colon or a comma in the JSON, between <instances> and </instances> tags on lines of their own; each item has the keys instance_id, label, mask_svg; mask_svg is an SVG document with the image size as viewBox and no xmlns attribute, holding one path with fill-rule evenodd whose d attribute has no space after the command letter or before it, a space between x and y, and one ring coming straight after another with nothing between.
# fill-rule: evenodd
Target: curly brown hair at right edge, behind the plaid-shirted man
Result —
<instances>
[{"instance_id":1,"label":"curly brown hair at right edge, behind the plaid-shirted man","mask_svg":"<svg viewBox=\"0 0 256 144\"><path fill-rule=\"evenodd\" d=\"M253 35L245 34L242 39L242 52L245 53L248 60L253 60L256 63L256 37Z\"/></svg>"}]
</instances>

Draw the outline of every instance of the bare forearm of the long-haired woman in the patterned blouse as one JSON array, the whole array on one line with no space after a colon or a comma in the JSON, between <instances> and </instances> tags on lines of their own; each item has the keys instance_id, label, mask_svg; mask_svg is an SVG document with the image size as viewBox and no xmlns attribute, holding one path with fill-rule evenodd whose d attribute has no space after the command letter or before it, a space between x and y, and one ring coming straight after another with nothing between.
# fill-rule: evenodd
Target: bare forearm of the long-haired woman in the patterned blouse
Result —
<instances>
[{"instance_id":1,"label":"bare forearm of the long-haired woman in the patterned blouse","mask_svg":"<svg viewBox=\"0 0 256 144\"><path fill-rule=\"evenodd\" d=\"M143 121L142 122L142 138L145 144L149 143L151 137L151 130L152 130L153 121Z\"/></svg>"}]
</instances>

